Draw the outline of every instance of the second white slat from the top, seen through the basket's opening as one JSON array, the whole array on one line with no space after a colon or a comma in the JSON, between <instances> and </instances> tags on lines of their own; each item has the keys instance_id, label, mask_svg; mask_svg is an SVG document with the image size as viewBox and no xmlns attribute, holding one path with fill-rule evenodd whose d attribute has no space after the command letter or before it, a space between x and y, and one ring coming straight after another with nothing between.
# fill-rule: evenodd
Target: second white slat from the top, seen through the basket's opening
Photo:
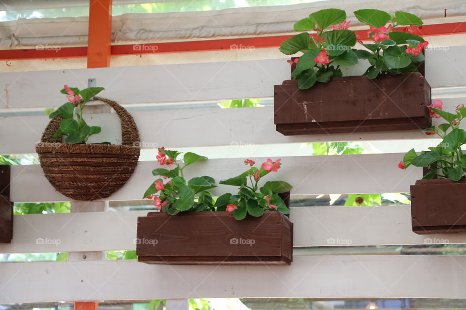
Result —
<instances>
[{"instance_id":1,"label":"second white slat from the top, seen through the basket's opening","mask_svg":"<svg viewBox=\"0 0 466 310\"><path fill-rule=\"evenodd\" d=\"M444 110L454 111L466 98L442 99ZM252 145L293 142L435 139L419 130L283 136L275 131L273 107L243 109L177 109L133 112L142 148L217 145ZM92 118L91 118L92 117ZM89 142L121 143L121 128L114 113L86 115L87 123L102 132ZM0 154L35 153L35 143L49 119L45 116L0 118ZM441 124L442 119L433 119ZM463 124L466 129L466 124Z\"/></svg>"}]
</instances>

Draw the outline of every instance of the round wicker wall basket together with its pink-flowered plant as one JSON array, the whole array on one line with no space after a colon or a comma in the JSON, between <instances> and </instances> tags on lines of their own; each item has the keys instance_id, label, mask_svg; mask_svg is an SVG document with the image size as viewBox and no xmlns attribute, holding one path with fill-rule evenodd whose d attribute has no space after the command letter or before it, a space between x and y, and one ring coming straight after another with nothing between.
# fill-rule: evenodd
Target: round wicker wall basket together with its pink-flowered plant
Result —
<instances>
[{"instance_id":1,"label":"round wicker wall basket together with its pink-flowered plant","mask_svg":"<svg viewBox=\"0 0 466 310\"><path fill-rule=\"evenodd\" d=\"M68 102L52 112L41 142L35 150L50 184L63 195L83 201L110 196L133 173L139 158L139 133L133 117L115 101L94 97L102 87L83 90L65 87ZM86 143L100 133L99 126L89 126L83 109L89 100L102 101L115 109L121 121L122 143ZM75 112L76 111L76 112ZM64 139L62 136L66 136Z\"/></svg>"}]
</instances>

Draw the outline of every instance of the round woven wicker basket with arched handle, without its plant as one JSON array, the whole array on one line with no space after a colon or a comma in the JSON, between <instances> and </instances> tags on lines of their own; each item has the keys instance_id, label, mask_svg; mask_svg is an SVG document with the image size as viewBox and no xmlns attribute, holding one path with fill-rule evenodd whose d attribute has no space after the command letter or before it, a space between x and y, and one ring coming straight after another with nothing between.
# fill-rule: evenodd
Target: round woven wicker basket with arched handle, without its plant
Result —
<instances>
[{"instance_id":1,"label":"round woven wicker basket with arched handle, without its plant","mask_svg":"<svg viewBox=\"0 0 466 310\"><path fill-rule=\"evenodd\" d=\"M114 101L95 99L115 109L121 121L122 145L67 144L61 143L61 137L52 140L62 120L55 117L35 146L47 180L73 200L110 196L130 178L139 159L139 132L133 117Z\"/></svg>"}]
</instances>

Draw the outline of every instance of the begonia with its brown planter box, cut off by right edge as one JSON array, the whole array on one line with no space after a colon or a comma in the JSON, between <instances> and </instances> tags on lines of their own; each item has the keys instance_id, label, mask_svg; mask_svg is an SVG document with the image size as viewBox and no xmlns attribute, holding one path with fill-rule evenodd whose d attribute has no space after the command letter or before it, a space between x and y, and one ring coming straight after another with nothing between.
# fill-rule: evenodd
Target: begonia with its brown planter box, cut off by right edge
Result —
<instances>
[{"instance_id":1,"label":"begonia with its brown planter box, cut off by right edge","mask_svg":"<svg viewBox=\"0 0 466 310\"><path fill-rule=\"evenodd\" d=\"M410 150L398 165L401 169L410 165L425 169L422 180L411 186L411 218L417 234L466 232L466 155L461 150L466 132L459 127L466 108L461 104L455 113L449 113L442 106L435 100L429 110L446 123L424 129L426 135L438 135L442 141L420 154Z\"/></svg>"}]
</instances>

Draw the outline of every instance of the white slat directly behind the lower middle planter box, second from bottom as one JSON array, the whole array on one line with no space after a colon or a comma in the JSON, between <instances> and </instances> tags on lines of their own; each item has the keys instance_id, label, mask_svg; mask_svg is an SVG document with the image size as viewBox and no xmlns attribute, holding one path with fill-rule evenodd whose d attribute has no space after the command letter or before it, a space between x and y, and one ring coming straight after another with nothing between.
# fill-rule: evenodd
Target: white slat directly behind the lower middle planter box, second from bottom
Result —
<instances>
[{"instance_id":1,"label":"white slat directly behind the lower middle planter box, second from bottom","mask_svg":"<svg viewBox=\"0 0 466 310\"><path fill-rule=\"evenodd\" d=\"M15 216L0 253L134 250L137 217L148 211ZM466 234L418 235L410 206L293 207L295 247L466 243Z\"/></svg>"}]
</instances>

